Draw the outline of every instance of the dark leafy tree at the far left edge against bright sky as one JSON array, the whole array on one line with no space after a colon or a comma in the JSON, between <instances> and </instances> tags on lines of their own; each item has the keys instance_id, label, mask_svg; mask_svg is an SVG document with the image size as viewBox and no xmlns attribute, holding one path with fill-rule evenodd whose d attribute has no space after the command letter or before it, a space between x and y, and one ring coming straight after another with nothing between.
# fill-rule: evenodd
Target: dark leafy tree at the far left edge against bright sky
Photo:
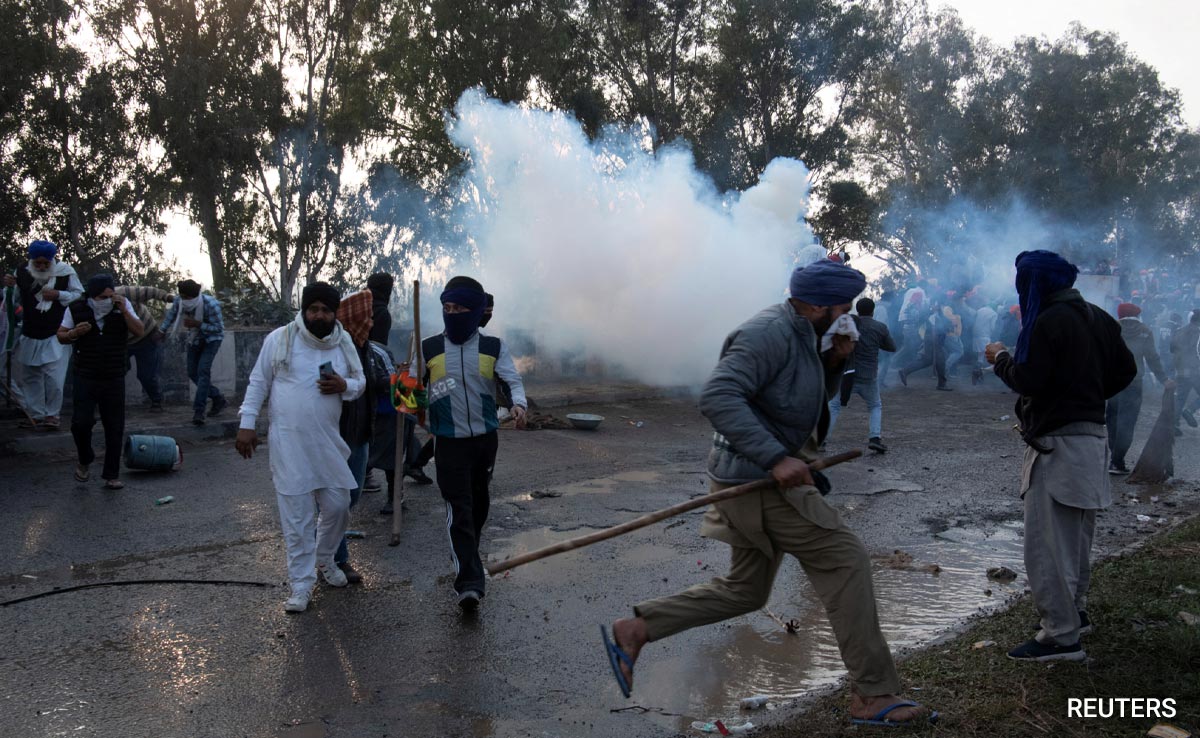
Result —
<instances>
[{"instance_id":1,"label":"dark leafy tree at the far left edge against bright sky","mask_svg":"<svg viewBox=\"0 0 1200 738\"><path fill-rule=\"evenodd\" d=\"M83 2L6 0L13 74L4 140L5 210L13 241L56 241L80 272L144 277L161 257L162 156L142 139L121 59L89 44ZM19 193L19 194L18 194Z\"/></svg>"}]
</instances>

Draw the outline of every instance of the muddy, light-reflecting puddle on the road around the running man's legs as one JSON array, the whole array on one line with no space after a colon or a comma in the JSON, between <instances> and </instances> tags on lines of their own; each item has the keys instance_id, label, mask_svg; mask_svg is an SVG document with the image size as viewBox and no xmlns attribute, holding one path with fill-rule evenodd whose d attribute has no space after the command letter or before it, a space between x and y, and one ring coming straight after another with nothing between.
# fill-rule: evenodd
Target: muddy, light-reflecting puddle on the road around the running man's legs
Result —
<instances>
[{"instance_id":1,"label":"muddy, light-reflecting puddle on the road around the running man's legs","mask_svg":"<svg viewBox=\"0 0 1200 738\"><path fill-rule=\"evenodd\" d=\"M904 556L880 552L874 558L880 623L894 653L928 644L1024 590L1019 526L954 530L962 540L914 539L898 547ZM1007 584L990 581L986 570L992 566L1021 575ZM794 634L785 630L788 622ZM652 646L638 662L640 703L682 713L662 720L685 733L695 734L692 720L738 716L743 697L767 695L782 703L845 674L824 608L794 559L780 570L766 608L692 634ZM690 650L680 653L683 648ZM757 713L742 714L754 720Z\"/></svg>"}]
</instances>

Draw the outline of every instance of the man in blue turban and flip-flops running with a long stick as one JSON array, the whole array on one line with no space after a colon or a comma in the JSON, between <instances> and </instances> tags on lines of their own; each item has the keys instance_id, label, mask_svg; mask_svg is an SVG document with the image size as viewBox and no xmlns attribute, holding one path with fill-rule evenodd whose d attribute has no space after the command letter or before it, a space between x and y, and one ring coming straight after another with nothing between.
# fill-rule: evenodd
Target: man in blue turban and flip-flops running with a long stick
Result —
<instances>
[{"instance_id":1,"label":"man in blue turban and flip-flops running with a long stick","mask_svg":"<svg viewBox=\"0 0 1200 738\"><path fill-rule=\"evenodd\" d=\"M701 535L732 546L728 575L636 605L632 618L612 624L616 643L605 634L613 674L626 697L642 647L758 610L770 596L784 556L792 554L824 604L850 670L853 722L936 718L896 696L900 677L880 631L870 558L824 500L820 488L828 491L828 481L805 463L815 458L828 427L828 400L854 348L840 332L848 318L839 318L865 284L862 272L829 260L797 269L790 300L762 311L725 340L700 398L701 412L716 431L708 456L712 488L764 478L779 486L706 512Z\"/></svg>"}]
</instances>

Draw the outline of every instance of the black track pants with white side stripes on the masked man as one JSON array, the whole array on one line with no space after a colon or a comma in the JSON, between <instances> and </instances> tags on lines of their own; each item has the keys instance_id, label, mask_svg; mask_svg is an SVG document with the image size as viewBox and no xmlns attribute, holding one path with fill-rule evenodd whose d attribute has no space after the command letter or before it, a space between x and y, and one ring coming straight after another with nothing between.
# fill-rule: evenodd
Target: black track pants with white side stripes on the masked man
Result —
<instances>
[{"instance_id":1,"label":"black track pants with white side stripes on the masked man","mask_svg":"<svg viewBox=\"0 0 1200 738\"><path fill-rule=\"evenodd\" d=\"M484 594L486 577L479 558L479 539L491 506L487 484L498 448L496 431L473 438L439 436L434 445L433 463L446 503L446 532L456 575L454 589L458 594L472 589Z\"/></svg>"}]
</instances>

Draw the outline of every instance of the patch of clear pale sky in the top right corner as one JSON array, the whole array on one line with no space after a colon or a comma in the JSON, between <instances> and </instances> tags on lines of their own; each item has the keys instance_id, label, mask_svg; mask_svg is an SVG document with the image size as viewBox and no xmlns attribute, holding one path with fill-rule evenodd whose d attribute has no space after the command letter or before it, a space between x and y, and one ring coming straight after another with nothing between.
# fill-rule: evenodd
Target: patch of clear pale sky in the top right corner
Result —
<instances>
[{"instance_id":1,"label":"patch of clear pale sky in the top right corner","mask_svg":"<svg viewBox=\"0 0 1200 738\"><path fill-rule=\"evenodd\" d=\"M1200 2L1196 0L930 0L953 7L964 23L1000 46L1019 36L1057 38L1078 20L1114 31L1133 55L1180 90L1183 119L1200 126Z\"/></svg>"}]
</instances>

